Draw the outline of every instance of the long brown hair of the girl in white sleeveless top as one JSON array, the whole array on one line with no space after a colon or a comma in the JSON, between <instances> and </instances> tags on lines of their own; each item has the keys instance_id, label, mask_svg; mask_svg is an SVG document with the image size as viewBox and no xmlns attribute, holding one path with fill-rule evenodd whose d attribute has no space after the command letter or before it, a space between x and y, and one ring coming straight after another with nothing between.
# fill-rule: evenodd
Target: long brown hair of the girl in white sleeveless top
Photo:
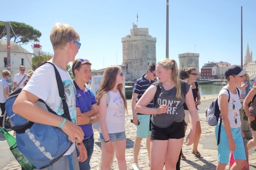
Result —
<instances>
[{"instance_id":1,"label":"long brown hair of the girl in white sleeveless top","mask_svg":"<svg viewBox=\"0 0 256 170\"><path fill-rule=\"evenodd\" d=\"M116 76L117 76L119 70L121 70L121 68L118 66L110 66L110 67L107 67L106 70L104 71L103 77L102 77L102 82L101 82L101 84L99 86L99 90L97 91L97 94L96 94L96 100L97 100L98 105L99 105L99 100L102 98L102 95L107 93L108 91L111 91L115 87ZM128 113L127 102L126 102L125 96L122 94L122 83L117 85L117 89L124 101L125 112Z\"/></svg>"}]
</instances>

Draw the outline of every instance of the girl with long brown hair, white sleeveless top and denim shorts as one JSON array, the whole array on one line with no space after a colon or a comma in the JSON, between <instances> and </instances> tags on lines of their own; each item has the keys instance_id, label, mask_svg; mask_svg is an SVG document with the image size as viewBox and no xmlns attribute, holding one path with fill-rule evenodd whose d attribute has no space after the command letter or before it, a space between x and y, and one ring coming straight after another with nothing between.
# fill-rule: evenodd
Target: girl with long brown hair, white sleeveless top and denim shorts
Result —
<instances>
[{"instance_id":1,"label":"girl with long brown hair, white sleeveless top and denim shorts","mask_svg":"<svg viewBox=\"0 0 256 170\"><path fill-rule=\"evenodd\" d=\"M127 102L122 94L125 78L118 66L110 66L103 73L102 83L96 94L99 105L99 133L102 144L101 170L109 170L114 152L119 170L127 170L125 160L125 111ZM107 97L110 102L107 105Z\"/></svg>"}]
</instances>

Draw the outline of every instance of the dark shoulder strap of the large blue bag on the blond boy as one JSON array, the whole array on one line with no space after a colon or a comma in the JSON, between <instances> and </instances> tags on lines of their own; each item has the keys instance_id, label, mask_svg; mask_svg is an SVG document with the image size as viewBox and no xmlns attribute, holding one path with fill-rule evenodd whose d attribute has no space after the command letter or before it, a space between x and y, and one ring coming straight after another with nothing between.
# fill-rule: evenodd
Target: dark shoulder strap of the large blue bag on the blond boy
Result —
<instances>
[{"instance_id":1,"label":"dark shoulder strap of the large blue bag on the blond boy","mask_svg":"<svg viewBox=\"0 0 256 170\"><path fill-rule=\"evenodd\" d=\"M69 110L68 110L68 105L67 105L67 102L66 102L66 97L65 97L65 92L64 92L64 85L63 85L62 80L61 80L61 75L59 74L57 68L55 67L55 65L52 62L44 62L41 65L39 65L39 67L41 67L42 65L44 65L46 63L52 65L53 68L54 68L55 77L56 77L57 86L58 86L58 93L59 93L59 96L61 97L61 100L62 100L64 117L72 122L72 120L70 118L70 113L69 113Z\"/></svg>"}]
</instances>

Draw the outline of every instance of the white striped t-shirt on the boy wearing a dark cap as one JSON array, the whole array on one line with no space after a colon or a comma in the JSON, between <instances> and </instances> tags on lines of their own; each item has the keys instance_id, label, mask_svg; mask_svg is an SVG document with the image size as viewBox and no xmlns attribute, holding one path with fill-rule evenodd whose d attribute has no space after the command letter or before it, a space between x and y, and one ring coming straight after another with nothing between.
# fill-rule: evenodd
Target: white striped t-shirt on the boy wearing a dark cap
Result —
<instances>
[{"instance_id":1,"label":"white striped t-shirt on the boy wearing a dark cap","mask_svg":"<svg viewBox=\"0 0 256 170\"><path fill-rule=\"evenodd\" d=\"M230 127L241 127L241 119L240 119L240 112L239 109L242 108L242 104L239 99L239 95L233 94L230 92L230 102L228 103L228 120L230 122ZM221 94L225 94L228 97L228 92L225 89L221 89L219 95L218 95L218 106L221 109L220 106L220 100L219 97ZM218 119L218 122L220 122L220 118ZM222 122L222 125L223 122Z\"/></svg>"}]
</instances>

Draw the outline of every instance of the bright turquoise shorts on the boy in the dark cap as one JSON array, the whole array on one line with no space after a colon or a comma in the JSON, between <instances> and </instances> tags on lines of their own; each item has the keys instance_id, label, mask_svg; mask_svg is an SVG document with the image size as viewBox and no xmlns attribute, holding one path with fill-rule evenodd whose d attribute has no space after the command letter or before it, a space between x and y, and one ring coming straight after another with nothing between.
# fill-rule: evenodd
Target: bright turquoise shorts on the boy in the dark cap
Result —
<instances>
[{"instance_id":1,"label":"bright turquoise shorts on the boy in the dark cap","mask_svg":"<svg viewBox=\"0 0 256 170\"><path fill-rule=\"evenodd\" d=\"M215 137L218 141L218 128L219 124L215 127ZM241 135L240 127L230 127L233 139L236 143L236 150L233 151L234 159L246 160L244 150L244 140ZM228 147L227 133L223 125L221 125L220 144L218 144L218 162L228 164L230 160L230 150Z\"/></svg>"}]
</instances>

